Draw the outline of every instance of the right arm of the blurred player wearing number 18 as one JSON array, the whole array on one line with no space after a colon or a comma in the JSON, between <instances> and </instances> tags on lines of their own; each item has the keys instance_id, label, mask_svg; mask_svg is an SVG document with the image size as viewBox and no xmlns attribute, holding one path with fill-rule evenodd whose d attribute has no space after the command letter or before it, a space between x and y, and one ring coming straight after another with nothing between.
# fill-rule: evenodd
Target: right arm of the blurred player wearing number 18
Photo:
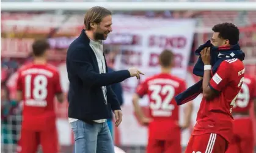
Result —
<instances>
[{"instance_id":1,"label":"right arm of the blurred player wearing number 18","mask_svg":"<svg viewBox=\"0 0 256 153\"><path fill-rule=\"evenodd\" d=\"M55 87L55 95L56 95L57 101L60 103L64 102L64 94L62 92L62 88L60 85L60 77L59 77L58 71L56 71L54 75L54 87Z\"/></svg>"}]
</instances>

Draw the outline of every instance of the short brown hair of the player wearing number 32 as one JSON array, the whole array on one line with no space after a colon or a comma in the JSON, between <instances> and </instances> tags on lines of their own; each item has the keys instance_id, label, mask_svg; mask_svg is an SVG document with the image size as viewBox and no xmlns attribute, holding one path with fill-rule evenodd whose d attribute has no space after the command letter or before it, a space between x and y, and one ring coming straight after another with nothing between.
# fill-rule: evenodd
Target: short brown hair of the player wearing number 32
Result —
<instances>
[{"instance_id":1,"label":"short brown hair of the player wearing number 32","mask_svg":"<svg viewBox=\"0 0 256 153\"><path fill-rule=\"evenodd\" d=\"M173 58L174 58L174 54L172 53L172 51L168 49L164 49L164 51L161 52L161 54L159 55L159 63L161 66L167 68L170 65L172 65Z\"/></svg>"}]
</instances>

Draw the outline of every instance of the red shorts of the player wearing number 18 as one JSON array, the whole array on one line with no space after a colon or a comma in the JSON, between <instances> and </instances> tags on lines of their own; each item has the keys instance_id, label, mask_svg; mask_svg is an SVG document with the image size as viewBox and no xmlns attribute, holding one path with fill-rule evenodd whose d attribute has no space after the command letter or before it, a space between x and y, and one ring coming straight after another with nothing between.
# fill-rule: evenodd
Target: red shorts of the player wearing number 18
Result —
<instances>
[{"instance_id":1,"label":"red shorts of the player wearing number 18","mask_svg":"<svg viewBox=\"0 0 256 153\"><path fill-rule=\"evenodd\" d=\"M56 127L40 132L21 129L20 153L35 153L39 144L42 145L43 152L57 153L59 142Z\"/></svg>"}]
</instances>

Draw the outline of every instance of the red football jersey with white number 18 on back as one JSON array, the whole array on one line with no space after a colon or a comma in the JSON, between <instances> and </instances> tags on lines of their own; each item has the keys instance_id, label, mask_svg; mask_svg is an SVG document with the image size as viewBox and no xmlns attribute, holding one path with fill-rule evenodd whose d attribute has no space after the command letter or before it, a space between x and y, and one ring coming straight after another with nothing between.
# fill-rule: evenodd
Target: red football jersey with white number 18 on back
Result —
<instances>
[{"instance_id":1,"label":"red football jersey with white number 18 on back","mask_svg":"<svg viewBox=\"0 0 256 153\"><path fill-rule=\"evenodd\" d=\"M25 129L55 126L54 96L62 93L59 72L51 65L24 65L18 71L17 90L22 91Z\"/></svg>"}]
</instances>

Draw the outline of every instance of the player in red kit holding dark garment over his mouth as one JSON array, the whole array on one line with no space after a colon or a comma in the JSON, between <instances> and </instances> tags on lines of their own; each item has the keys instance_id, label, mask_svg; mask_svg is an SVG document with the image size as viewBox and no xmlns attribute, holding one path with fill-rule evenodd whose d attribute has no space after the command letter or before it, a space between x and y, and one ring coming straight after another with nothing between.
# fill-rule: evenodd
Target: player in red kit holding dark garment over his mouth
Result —
<instances>
[{"instance_id":1,"label":"player in red kit holding dark garment over his mouth","mask_svg":"<svg viewBox=\"0 0 256 153\"><path fill-rule=\"evenodd\" d=\"M213 32L214 46L228 48L238 43L239 30L232 23L217 24ZM224 60L211 78L210 48L200 54L205 65L203 98L185 153L224 153L233 137L231 113L243 84L244 65L239 59Z\"/></svg>"}]
</instances>

